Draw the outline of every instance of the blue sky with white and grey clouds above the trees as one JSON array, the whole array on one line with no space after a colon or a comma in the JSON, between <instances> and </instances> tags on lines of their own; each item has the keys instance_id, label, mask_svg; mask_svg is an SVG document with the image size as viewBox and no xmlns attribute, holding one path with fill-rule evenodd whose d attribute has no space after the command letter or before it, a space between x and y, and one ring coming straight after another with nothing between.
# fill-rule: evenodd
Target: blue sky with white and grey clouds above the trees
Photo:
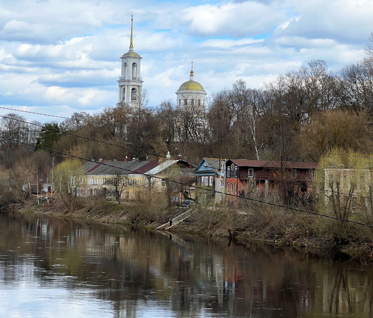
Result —
<instances>
[{"instance_id":1,"label":"blue sky with white and grey clouds above the trees","mask_svg":"<svg viewBox=\"0 0 373 318\"><path fill-rule=\"evenodd\" d=\"M370 0L1 0L0 107L69 117L115 106L131 15L152 106L176 102L191 61L208 94L240 78L258 88L313 59L331 71L357 62L373 31Z\"/></svg>"}]
</instances>

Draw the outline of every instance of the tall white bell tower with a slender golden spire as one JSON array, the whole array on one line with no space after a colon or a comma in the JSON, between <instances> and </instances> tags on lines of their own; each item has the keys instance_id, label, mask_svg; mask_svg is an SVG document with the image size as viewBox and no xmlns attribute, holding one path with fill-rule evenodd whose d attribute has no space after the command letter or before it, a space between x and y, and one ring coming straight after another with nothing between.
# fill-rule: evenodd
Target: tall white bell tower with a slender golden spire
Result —
<instances>
[{"instance_id":1,"label":"tall white bell tower with a slender golden spire","mask_svg":"<svg viewBox=\"0 0 373 318\"><path fill-rule=\"evenodd\" d=\"M136 103L139 100L142 87L142 77L140 76L140 61L142 57L134 52L132 44L132 22L131 16L131 44L129 51L120 57L122 60L122 74L119 77L119 100L118 103Z\"/></svg>"}]
</instances>

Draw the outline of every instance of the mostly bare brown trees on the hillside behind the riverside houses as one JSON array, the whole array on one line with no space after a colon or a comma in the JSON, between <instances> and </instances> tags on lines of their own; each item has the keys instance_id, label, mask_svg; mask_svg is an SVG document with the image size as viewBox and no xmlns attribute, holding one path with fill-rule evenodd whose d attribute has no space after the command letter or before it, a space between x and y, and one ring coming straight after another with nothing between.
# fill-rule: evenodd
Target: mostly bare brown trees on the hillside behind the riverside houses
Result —
<instances>
[{"instance_id":1,"label":"mostly bare brown trees on the hillside behind the riverside houses","mask_svg":"<svg viewBox=\"0 0 373 318\"><path fill-rule=\"evenodd\" d=\"M152 107L143 90L135 105L73 113L60 123L8 114L0 122L2 162L16 162L19 141L95 160L158 159L167 151L192 163L203 157L317 161L335 147L371 153L372 45L363 60L339 71L312 60L261 88L239 79L211 94L206 106L164 100Z\"/></svg>"}]
</instances>

